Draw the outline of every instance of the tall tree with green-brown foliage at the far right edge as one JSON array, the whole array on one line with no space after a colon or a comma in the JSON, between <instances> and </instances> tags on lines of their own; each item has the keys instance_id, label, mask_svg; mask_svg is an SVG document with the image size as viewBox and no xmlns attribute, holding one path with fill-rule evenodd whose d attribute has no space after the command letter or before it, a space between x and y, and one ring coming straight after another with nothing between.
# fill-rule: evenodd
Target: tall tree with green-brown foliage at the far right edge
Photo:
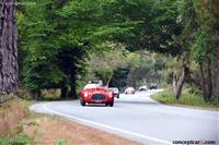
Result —
<instances>
[{"instance_id":1,"label":"tall tree with green-brown foliage at the far right edge","mask_svg":"<svg viewBox=\"0 0 219 145\"><path fill-rule=\"evenodd\" d=\"M195 1L197 13L197 33L192 45L192 58L199 65L199 86L206 101L219 100L218 95L218 17L219 2L215 0ZM208 21L206 21L208 20Z\"/></svg>"}]
</instances>

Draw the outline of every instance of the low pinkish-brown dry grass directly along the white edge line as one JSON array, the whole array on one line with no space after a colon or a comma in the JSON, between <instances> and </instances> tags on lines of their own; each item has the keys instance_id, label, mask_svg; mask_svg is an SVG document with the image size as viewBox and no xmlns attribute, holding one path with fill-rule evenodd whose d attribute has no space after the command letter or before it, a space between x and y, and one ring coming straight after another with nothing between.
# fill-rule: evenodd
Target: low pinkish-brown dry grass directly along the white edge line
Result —
<instances>
[{"instance_id":1,"label":"low pinkish-brown dry grass directly along the white edge line","mask_svg":"<svg viewBox=\"0 0 219 145\"><path fill-rule=\"evenodd\" d=\"M28 121L27 121L28 122ZM33 122L30 121L30 122ZM114 134L84 126L56 116L34 119L37 125L25 125L24 132L34 136L36 144L49 145L140 145ZM30 123L27 123L30 124Z\"/></svg>"}]
</instances>

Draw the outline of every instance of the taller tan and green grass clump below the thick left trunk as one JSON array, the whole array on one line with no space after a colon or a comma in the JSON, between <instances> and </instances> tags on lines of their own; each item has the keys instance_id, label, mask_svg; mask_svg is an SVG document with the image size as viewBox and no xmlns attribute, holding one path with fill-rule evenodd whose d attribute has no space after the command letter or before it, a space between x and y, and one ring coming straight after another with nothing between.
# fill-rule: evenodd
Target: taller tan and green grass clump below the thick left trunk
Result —
<instances>
[{"instance_id":1,"label":"taller tan and green grass clump below the thick left trunk","mask_svg":"<svg viewBox=\"0 0 219 145\"><path fill-rule=\"evenodd\" d=\"M30 117L27 102L18 98L0 106L0 144L32 145L33 140L23 133L22 120Z\"/></svg>"}]
</instances>

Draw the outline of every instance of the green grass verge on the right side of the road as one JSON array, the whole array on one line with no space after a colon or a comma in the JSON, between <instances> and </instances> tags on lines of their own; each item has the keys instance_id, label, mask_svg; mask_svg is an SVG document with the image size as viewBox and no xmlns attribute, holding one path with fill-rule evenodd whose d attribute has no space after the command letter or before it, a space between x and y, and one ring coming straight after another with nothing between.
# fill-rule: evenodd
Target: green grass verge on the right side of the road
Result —
<instances>
[{"instance_id":1,"label":"green grass verge on the right side of the road","mask_svg":"<svg viewBox=\"0 0 219 145\"><path fill-rule=\"evenodd\" d=\"M198 108L218 109L219 104L216 101L206 102L201 95L192 93L189 89L185 89L178 100L175 99L173 90L166 89L164 92L154 94L153 99L165 105L184 105Z\"/></svg>"}]
</instances>

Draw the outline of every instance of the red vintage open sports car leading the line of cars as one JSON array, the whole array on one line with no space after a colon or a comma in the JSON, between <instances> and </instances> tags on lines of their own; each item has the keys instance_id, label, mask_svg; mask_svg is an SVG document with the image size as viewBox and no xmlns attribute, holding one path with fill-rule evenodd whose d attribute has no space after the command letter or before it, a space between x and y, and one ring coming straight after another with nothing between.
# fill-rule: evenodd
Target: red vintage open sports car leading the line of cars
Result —
<instances>
[{"instance_id":1,"label":"red vintage open sports car leading the line of cars","mask_svg":"<svg viewBox=\"0 0 219 145\"><path fill-rule=\"evenodd\" d=\"M96 84L87 84L80 92L81 106L85 104L105 104L110 107L114 106L114 92L104 87L99 87Z\"/></svg>"}]
</instances>

